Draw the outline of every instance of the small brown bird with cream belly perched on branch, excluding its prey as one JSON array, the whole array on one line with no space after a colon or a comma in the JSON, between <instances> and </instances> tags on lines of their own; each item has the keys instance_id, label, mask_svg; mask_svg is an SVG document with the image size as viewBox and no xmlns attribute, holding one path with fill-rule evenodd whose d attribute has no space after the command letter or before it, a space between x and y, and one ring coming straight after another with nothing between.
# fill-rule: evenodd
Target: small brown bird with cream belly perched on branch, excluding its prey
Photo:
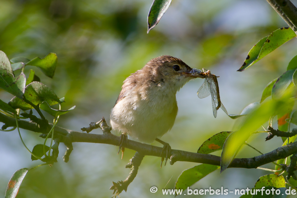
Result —
<instances>
[{"instance_id":1,"label":"small brown bird with cream belly perched on branch, excluding its prey","mask_svg":"<svg viewBox=\"0 0 297 198\"><path fill-rule=\"evenodd\" d=\"M166 55L151 59L124 80L111 110L112 128L140 142L157 140L164 145L167 161L171 148L158 138L174 124L178 111L176 92L193 78L205 78L200 74L179 58Z\"/></svg>"}]
</instances>

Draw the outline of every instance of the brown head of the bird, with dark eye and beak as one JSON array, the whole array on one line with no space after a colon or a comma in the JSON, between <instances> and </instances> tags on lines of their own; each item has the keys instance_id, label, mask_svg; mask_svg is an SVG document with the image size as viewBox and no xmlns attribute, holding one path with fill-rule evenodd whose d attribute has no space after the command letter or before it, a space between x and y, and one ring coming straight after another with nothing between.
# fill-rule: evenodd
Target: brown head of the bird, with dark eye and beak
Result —
<instances>
[{"instance_id":1,"label":"brown head of the bird, with dark eye and beak","mask_svg":"<svg viewBox=\"0 0 297 198\"><path fill-rule=\"evenodd\" d=\"M170 83L180 89L193 78L205 78L201 71L192 69L181 59L173 56L159 56L151 59L147 64L151 72L151 80L156 83Z\"/></svg>"}]
</instances>

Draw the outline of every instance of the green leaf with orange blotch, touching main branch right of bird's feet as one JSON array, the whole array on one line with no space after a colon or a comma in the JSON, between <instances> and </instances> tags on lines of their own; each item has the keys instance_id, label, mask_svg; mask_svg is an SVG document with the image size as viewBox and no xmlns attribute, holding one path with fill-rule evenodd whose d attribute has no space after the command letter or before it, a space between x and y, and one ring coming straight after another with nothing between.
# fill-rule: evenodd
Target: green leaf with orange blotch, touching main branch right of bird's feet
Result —
<instances>
[{"instance_id":1,"label":"green leaf with orange blotch, touching main branch right of bird's feet","mask_svg":"<svg viewBox=\"0 0 297 198\"><path fill-rule=\"evenodd\" d=\"M222 150L224 142L230 135L230 133L232 132L223 131L211 136L208 140L203 142L203 144L199 147L197 153L209 154L214 151Z\"/></svg>"}]
</instances>

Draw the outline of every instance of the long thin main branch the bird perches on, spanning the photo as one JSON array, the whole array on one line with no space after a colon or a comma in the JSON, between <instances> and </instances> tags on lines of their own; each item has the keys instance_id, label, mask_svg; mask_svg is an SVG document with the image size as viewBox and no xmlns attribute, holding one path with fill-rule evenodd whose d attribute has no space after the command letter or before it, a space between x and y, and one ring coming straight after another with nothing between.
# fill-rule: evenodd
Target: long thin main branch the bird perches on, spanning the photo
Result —
<instances>
[{"instance_id":1,"label":"long thin main branch the bird perches on, spanning the photo","mask_svg":"<svg viewBox=\"0 0 297 198\"><path fill-rule=\"evenodd\" d=\"M9 116L1 113L0 122L3 122L9 126L16 125L14 118L10 118ZM52 126L52 124L50 124L50 126ZM46 133L46 131L41 130L40 126L37 126L35 123L31 123L28 121L19 121L19 127L33 132ZM117 146L120 140L119 136L113 134L88 134L64 129L58 126L56 126L55 128L55 134L57 135L56 138L58 139L58 141L64 142L66 145L71 145L72 142L90 142ZM162 153L161 147L136 142L133 140L128 140L128 145L126 145L125 147L147 156L160 157ZM257 168L264 164L268 164L279 159L284 159L296 152L297 142L293 142L289 145L279 147L269 153L260 156L252 158L236 158L231 162L229 168ZM170 164L174 164L176 161L188 161L219 166L221 163L221 158L219 156L214 156L211 154L192 153L175 149L172 149L170 154ZM165 155L162 157L165 157Z\"/></svg>"}]
</instances>

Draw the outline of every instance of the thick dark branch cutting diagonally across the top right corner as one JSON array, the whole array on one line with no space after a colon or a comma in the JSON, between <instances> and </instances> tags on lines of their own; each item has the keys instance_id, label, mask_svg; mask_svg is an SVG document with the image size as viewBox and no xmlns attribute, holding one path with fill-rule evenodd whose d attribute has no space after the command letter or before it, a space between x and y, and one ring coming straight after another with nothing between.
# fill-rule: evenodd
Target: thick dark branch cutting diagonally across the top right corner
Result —
<instances>
[{"instance_id":1,"label":"thick dark branch cutting diagonally across the top right corner","mask_svg":"<svg viewBox=\"0 0 297 198\"><path fill-rule=\"evenodd\" d=\"M267 0L273 9L282 17L297 34L297 8L290 0Z\"/></svg>"}]
</instances>

